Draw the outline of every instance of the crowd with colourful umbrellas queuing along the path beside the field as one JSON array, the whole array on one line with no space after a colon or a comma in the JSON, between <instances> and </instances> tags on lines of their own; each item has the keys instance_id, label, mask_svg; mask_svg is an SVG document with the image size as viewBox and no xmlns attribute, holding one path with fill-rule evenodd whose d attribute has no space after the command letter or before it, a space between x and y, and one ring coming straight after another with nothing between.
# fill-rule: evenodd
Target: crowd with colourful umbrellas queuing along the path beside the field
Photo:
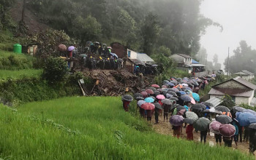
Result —
<instances>
[{"instance_id":1,"label":"crowd with colourful umbrellas queuing along the path beside the field","mask_svg":"<svg viewBox=\"0 0 256 160\"><path fill-rule=\"evenodd\" d=\"M163 114L164 121L172 125L173 136L180 137L182 128L186 128L187 140L193 140L195 132L200 132L200 142L206 143L207 135L214 133L217 145L231 147L233 141L237 147L240 135L242 140L249 140L249 151L256 150L256 112L234 106L227 108L223 105L214 106L201 102L197 94L208 81L214 81L215 75L201 78L176 79L172 77L162 82L160 87L151 87L131 95L122 97L125 111L129 111L129 103L135 99L140 115L151 123L154 115L155 124L159 123L159 115ZM170 115L170 119L168 116ZM242 134L244 133L244 137Z\"/></svg>"}]
</instances>

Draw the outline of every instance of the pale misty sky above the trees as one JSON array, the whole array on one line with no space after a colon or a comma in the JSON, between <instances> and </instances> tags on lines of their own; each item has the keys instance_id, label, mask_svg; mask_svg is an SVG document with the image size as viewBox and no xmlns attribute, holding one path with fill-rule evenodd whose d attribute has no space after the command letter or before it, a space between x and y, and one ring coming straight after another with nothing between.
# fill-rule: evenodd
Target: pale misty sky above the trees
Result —
<instances>
[{"instance_id":1,"label":"pale misty sky above the trees","mask_svg":"<svg viewBox=\"0 0 256 160\"><path fill-rule=\"evenodd\" d=\"M223 26L223 31L217 27L209 27L206 35L201 37L201 46L207 49L208 60L213 55L219 55L219 63L224 68L227 48L230 55L239 46L239 41L245 40L252 49L256 49L256 0L204 0L201 14L209 17ZM241 68L242 69L242 68Z\"/></svg>"}]
</instances>

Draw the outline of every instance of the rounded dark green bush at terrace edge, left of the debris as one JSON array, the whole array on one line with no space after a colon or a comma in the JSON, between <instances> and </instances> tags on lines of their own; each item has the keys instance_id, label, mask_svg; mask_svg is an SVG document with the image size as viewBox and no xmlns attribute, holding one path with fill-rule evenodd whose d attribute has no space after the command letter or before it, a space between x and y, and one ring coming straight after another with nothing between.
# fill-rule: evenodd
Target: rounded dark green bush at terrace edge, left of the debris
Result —
<instances>
[{"instance_id":1,"label":"rounded dark green bush at terrace edge, left of the debris","mask_svg":"<svg viewBox=\"0 0 256 160\"><path fill-rule=\"evenodd\" d=\"M42 78L50 84L58 84L67 76L67 63L59 57L49 57L43 67Z\"/></svg>"}]
</instances>

